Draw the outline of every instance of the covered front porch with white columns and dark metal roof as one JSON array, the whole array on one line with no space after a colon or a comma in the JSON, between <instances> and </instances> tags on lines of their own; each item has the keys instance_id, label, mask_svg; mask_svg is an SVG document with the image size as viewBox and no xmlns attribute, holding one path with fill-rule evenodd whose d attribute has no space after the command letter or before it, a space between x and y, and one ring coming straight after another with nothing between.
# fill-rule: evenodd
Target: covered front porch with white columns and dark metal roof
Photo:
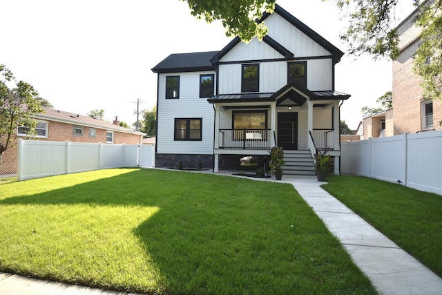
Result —
<instances>
[{"instance_id":1,"label":"covered front porch with white columns and dark metal roof","mask_svg":"<svg viewBox=\"0 0 442 295\"><path fill-rule=\"evenodd\" d=\"M327 147L339 173L339 104L349 95L336 91L308 91L288 84L277 93L216 95L214 171L220 155L269 155L271 146L285 151L309 151Z\"/></svg>"}]
</instances>

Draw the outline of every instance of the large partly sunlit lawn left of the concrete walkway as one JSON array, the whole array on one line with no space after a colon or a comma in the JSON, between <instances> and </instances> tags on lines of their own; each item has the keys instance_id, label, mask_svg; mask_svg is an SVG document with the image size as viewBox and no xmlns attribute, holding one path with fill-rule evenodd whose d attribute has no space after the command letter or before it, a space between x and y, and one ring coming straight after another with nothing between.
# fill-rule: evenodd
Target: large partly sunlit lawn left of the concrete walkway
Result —
<instances>
[{"instance_id":1,"label":"large partly sunlit lawn left of the concrete walkway","mask_svg":"<svg viewBox=\"0 0 442 295\"><path fill-rule=\"evenodd\" d=\"M4 272L149 294L376 294L289 184L108 169L0 186Z\"/></svg>"}]
</instances>

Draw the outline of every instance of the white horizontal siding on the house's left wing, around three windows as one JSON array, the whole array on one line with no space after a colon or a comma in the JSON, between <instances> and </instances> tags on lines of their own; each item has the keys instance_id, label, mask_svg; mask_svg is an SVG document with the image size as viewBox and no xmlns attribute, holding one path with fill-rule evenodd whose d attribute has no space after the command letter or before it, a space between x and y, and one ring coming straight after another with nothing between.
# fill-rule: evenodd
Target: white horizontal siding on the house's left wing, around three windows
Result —
<instances>
[{"instance_id":1,"label":"white horizontal siding on the house's left wing, around three windows","mask_svg":"<svg viewBox=\"0 0 442 295\"><path fill-rule=\"evenodd\" d=\"M215 72L171 73L158 76L157 153L213 154L213 106L200 98L200 75ZM166 99L166 76L180 76L178 99ZM216 79L216 77L215 77ZM202 118L201 141L175 141L175 118Z\"/></svg>"}]
</instances>

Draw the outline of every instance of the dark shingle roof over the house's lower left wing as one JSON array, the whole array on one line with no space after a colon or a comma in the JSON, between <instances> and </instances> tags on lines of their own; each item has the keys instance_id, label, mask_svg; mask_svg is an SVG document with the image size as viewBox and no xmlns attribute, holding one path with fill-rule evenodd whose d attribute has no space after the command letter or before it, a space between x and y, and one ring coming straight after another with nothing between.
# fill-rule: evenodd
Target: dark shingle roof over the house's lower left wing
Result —
<instances>
[{"instance_id":1,"label":"dark shingle roof over the house's lower left wing","mask_svg":"<svg viewBox=\"0 0 442 295\"><path fill-rule=\"evenodd\" d=\"M154 73L177 73L199 70L213 70L211 58L218 51L204 53L174 53L152 68Z\"/></svg>"}]
</instances>

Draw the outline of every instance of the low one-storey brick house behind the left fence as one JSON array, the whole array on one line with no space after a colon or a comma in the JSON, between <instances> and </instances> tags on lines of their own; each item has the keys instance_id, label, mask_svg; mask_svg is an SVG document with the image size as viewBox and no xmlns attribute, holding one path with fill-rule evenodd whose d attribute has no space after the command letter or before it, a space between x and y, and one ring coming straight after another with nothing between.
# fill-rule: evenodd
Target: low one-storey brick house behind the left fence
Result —
<instances>
[{"instance_id":1,"label":"low one-storey brick house behind the left fence","mask_svg":"<svg viewBox=\"0 0 442 295\"><path fill-rule=\"evenodd\" d=\"M90 142L108 144L142 144L144 133L119 126L117 117L108 123L93 117L44 107L45 113L34 115L37 120L37 140L55 142ZM18 135L27 138L26 128L19 127ZM3 154L0 175L17 173L17 148Z\"/></svg>"}]
</instances>

